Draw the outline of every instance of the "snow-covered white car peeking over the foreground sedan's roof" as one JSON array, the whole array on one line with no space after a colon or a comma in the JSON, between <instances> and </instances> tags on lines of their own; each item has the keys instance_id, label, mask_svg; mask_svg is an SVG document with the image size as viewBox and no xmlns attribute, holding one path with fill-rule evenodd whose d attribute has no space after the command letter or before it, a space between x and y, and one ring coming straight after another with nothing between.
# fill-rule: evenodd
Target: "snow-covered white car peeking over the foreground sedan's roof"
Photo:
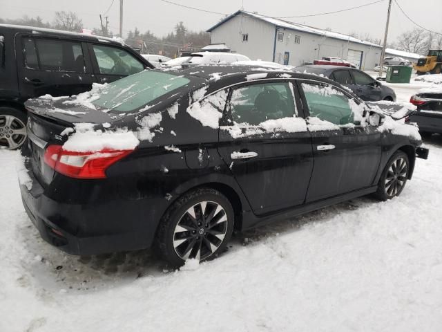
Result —
<instances>
[{"instance_id":1,"label":"snow-covered white car peeking over the foreground sedan's roof","mask_svg":"<svg viewBox=\"0 0 442 332\"><path fill-rule=\"evenodd\" d=\"M238 53L228 52L196 52L189 57L177 57L164 63L166 66L180 66L182 64L231 64L238 61L250 61L249 57Z\"/></svg>"}]
</instances>

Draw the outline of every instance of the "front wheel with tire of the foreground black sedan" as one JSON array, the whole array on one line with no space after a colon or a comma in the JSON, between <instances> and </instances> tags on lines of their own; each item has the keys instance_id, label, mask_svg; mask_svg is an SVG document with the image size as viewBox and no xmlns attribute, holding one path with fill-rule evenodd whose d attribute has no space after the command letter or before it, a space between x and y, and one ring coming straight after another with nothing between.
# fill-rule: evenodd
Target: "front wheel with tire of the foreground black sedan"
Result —
<instances>
[{"instance_id":1,"label":"front wheel with tire of the foreground black sedan","mask_svg":"<svg viewBox=\"0 0 442 332\"><path fill-rule=\"evenodd\" d=\"M387 201L399 196L407 183L410 172L410 160L403 151L396 151L381 174L378 189L374 196L380 201Z\"/></svg>"}]
</instances>

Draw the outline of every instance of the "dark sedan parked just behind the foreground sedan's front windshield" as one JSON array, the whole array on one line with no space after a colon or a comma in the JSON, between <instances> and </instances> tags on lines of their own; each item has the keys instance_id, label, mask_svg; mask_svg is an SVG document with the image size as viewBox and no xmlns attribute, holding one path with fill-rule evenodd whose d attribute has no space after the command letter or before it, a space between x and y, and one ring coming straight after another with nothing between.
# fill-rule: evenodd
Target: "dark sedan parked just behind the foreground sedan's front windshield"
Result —
<instances>
[{"instance_id":1,"label":"dark sedan parked just behind the foreground sedan's front windshield","mask_svg":"<svg viewBox=\"0 0 442 332\"><path fill-rule=\"evenodd\" d=\"M329 77L343 86L351 89L359 98L367 102L387 100L396 102L396 93L388 86L374 80L371 76L356 68L327 65L310 65L294 68L294 71L314 73Z\"/></svg>"}]
</instances>

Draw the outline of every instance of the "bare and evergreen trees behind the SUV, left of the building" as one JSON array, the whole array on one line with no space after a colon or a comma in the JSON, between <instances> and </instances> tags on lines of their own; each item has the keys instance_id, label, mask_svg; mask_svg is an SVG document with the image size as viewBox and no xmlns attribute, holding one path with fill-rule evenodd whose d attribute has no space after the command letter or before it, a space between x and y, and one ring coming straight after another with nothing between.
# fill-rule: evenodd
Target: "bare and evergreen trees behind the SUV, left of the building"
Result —
<instances>
[{"instance_id":1,"label":"bare and evergreen trees behind the SUV, left of the building","mask_svg":"<svg viewBox=\"0 0 442 332\"><path fill-rule=\"evenodd\" d=\"M52 22L43 21L41 17L23 16L20 19L2 19L0 23L17 24L21 26L35 26L39 28L54 28L59 30L81 32L84 27L83 21L75 12L55 12ZM113 37L111 30L106 26L90 29L93 35ZM155 36L151 30L141 33L136 27L129 30L125 39L126 44L139 49L142 53L162 54L169 57L179 55L180 50L194 51L210 43L210 34L204 31L189 31L182 22L173 28L165 37Z\"/></svg>"}]
</instances>

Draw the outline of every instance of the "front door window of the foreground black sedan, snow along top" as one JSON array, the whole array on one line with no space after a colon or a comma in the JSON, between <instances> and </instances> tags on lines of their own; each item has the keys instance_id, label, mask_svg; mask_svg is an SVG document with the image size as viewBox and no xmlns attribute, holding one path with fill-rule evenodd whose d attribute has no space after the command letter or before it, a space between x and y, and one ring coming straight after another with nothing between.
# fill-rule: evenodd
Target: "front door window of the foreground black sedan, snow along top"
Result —
<instances>
[{"instance_id":1,"label":"front door window of the foreground black sedan, snow along top","mask_svg":"<svg viewBox=\"0 0 442 332\"><path fill-rule=\"evenodd\" d=\"M311 117L338 125L354 122L350 99L344 93L327 84L302 83L301 86Z\"/></svg>"}]
</instances>

